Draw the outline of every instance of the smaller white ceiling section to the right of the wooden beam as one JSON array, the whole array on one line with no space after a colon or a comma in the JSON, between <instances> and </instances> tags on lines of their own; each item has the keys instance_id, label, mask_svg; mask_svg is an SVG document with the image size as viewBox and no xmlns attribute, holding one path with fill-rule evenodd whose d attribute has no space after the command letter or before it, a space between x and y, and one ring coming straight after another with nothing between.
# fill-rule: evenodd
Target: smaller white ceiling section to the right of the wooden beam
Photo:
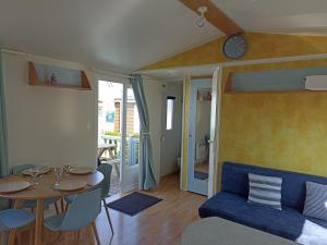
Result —
<instances>
[{"instance_id":1,"label":"smaller white ceiling section to the right of the wooden beam","mask_svg":"<svg viewBox=\"0 0 327 245\"><path fill-rule=\"evenodd\" d=\"M213 0L247 32L327 34L327 0Z\"/></svg>"}]
</instances>

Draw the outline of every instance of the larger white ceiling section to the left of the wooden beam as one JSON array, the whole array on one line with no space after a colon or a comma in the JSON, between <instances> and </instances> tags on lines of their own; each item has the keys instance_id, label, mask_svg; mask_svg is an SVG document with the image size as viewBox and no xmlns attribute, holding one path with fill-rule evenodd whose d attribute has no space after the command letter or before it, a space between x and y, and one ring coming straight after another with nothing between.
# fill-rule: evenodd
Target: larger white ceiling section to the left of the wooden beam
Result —
<instances>
[{"instance_id":1,"label":"larger white ceiling section to the left of the wooden beam","mask_svg":"<svg viewBox=\"0 0 327 245\"><path fill-rule=\"evenodd\" d=\"M0 0L0 45L131 72L221 33L178 0Z\"/></svg>"}]
</instances>

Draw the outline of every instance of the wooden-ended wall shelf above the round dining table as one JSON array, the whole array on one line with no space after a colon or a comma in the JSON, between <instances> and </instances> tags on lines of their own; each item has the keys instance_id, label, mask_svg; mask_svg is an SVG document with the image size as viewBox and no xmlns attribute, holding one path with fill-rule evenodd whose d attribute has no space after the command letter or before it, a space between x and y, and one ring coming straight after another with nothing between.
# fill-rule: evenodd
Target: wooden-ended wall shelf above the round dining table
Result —
<instances>
[{"instance_id":1,"label":"wooden-ended wall shelf above the round dining table","mask_svg":"<svg viewBox=\"0 0 327 245\"><path fill-rule=\"evenodd\" d=\"M56 68L28 62L29 86L69 88L75 90L92 90L84 71ZM56 74L56 84L50 83L50 75Z\"/></svg>"}]
</instances>

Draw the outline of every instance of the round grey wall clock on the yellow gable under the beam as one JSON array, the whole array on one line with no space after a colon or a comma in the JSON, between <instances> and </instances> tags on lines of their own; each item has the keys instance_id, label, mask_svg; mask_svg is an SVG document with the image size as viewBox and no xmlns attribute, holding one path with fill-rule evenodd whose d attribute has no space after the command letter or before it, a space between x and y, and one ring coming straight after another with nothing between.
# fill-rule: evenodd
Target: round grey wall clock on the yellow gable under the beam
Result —
<instances>
[{"instance_id":1,"label":"round grey wall clock on the yellow gable under the beam","mask_svg":"<svg viewBox=\"0 0 327 245\"><path fill-rule=\"evenodd\" d=\"M242 58L247 51L247 41L241 34L230 35L223 42L222 52L231 60Z\"/></svg>"}]
</instances>

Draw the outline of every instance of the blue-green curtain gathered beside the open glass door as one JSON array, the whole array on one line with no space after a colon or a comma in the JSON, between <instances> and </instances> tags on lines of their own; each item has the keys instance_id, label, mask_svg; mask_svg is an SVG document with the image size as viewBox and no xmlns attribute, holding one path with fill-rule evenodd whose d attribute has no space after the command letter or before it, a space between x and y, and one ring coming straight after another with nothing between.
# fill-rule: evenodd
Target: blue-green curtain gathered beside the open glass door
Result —
<instances>
[{"instance_id":1,"label":"blue-green curtain gathered beside the open glass door","mask_svg":"<svg viewBox=\"0 0 327 245\"><path fill-rule=\"evenodd\" d=\"M157 181L154 174L153 146L149 134L149 117L143 88L143 78L141 75L134 75L130 81L133 87L141 124L140 188L149 189L157 186Z\"/></svg>"}]
</instances>

